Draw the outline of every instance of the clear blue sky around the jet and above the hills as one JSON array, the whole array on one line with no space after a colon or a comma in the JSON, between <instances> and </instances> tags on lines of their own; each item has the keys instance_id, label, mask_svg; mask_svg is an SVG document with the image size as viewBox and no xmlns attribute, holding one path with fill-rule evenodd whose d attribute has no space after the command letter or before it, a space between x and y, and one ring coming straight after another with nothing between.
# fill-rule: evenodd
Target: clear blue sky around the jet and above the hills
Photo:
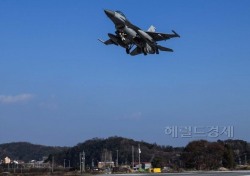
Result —
<instances>
[{"instance_id":1,"label":"clear blue sky around the jet and above the hills","mask_svg":"<svg viewBox=\"0 0 250 176\"><path fill-rule=\"evenodd\" d=\"M131 57L97 38L103 9L174 29L173 53ZM166 126L233 126L250 141L250 1L0 1L0 143L124 136L182 146ZM208 140L226 139L204 138Z\"/></svg>"}]
</instances>

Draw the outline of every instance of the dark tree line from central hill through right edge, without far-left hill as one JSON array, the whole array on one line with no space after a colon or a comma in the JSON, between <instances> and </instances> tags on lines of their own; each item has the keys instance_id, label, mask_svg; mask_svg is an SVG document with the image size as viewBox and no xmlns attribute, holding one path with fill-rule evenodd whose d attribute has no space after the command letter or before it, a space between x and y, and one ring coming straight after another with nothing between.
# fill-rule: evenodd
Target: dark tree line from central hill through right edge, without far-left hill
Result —
<instances>
[{"instance_id":1,"label":"dark tree line from central hill through right edge, without far-left hill","mask_svg":"<svg viewBox=\"0 0 250 176\"><path fill-rule=\"evenodd\" d=\"M69 150L55 154L54 159L59 165L62 165L64 160L70 160L71 166L78 168L79 153L84 151L86 167L91 168L97 166L99 161L103 161L102 153L108 150L111 151L114 162L116 162L118 152L119 165L131 165L132 156L134 156L134 162L138 162L138 145L141 150L141 162L151 162L153 167L161 168L214 170L225 167L232 169L236 165L248 163L250 158L250 145L243 140L218 140L216 142L198 140L190 142L185 147L172 147L122 137L110 137L94 138L79 143ZM132 146L134 154L132 154Z\"/></svg>"}]
</instances>

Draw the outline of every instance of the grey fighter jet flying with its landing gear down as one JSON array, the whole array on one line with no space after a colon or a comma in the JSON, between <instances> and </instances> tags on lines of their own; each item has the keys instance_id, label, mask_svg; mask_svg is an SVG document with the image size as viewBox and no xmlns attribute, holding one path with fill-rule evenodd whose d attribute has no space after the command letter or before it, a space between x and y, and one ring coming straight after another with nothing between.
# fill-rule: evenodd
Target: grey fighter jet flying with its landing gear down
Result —
<instances>
[{"instance_id":1,"label":"grey fighter jet flying with its landing gear down","mask_svg":"<svg viewBox=\"0 0 250 176\"><path fill-rule=\"evenodd\" d=\"M160 51L173 52L172 49L158 45L158 41L168 40L174 37L180 37L174 30L173 34L155 32L155 27L150 26L147 31L141 30L133 25L121 11L104 10L105 14L115 24L115 35L108 33L109 39L103 41L106 45L119 45L126 49L126 53L132 56L137 54L159 54ZM135 46L132 52L131 49Z\"/></svg>"}]
</instances>

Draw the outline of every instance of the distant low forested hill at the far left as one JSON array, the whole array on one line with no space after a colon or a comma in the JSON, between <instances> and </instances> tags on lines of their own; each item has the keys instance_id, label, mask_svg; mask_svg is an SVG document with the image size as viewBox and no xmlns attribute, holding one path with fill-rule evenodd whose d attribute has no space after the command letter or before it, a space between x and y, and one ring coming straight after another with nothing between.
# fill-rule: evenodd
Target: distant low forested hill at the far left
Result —
<instances>
[{"instance_id":1,"label":"distant low forested hill at the far left","mask_svg":"<svg viewBox=\"0 0 250 176\"><path fill-rule=\"evenodd\" d=\"M29 162L31 160L42 160L43 157L52 153L59 153L68 148L66 147L49 147L43 145L35 145L28 142L12 142L0 144L0 159L5 157L11 160L22 160Z\"/></svg>"}]
</instances>

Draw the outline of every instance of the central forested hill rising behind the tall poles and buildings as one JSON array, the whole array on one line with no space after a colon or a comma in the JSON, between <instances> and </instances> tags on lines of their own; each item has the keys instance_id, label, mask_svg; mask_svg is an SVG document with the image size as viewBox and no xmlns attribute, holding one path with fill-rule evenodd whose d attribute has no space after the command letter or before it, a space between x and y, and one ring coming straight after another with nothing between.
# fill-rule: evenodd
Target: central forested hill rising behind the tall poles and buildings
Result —
<instances>
[{"instance_id":1,"label":"central forested hill rising behind the tall poles and buildings","mask_svg":"<svg viewBox=\"0 0 250 176\"><path fill-rule=\"evenodd\" d=\"M79 154L85 152L86 165L91 166L92 163L96 166L98 161L116 161L118 150L119 164L131 164L132 162L132 147L134 148L134 161L138 162L138 147L140 145L141 162L153 162L161 160L162 163L178 162L178 156L184 148L174 148L172 146L160 146L157 144L150 144L144 141L135 141L133 139L123 137L109 137L107 139L94 138L87 140L84 143L70 148L54 155L55 162L63 165L64 159L71 161L71 166L79 166ZM105 154L106 152L106 154ZM110 156L111 153L111 156ZM102 157L103 156L103 157ZM111 159L109 158L111 157Z\"/></svg>"}]
</instances>

